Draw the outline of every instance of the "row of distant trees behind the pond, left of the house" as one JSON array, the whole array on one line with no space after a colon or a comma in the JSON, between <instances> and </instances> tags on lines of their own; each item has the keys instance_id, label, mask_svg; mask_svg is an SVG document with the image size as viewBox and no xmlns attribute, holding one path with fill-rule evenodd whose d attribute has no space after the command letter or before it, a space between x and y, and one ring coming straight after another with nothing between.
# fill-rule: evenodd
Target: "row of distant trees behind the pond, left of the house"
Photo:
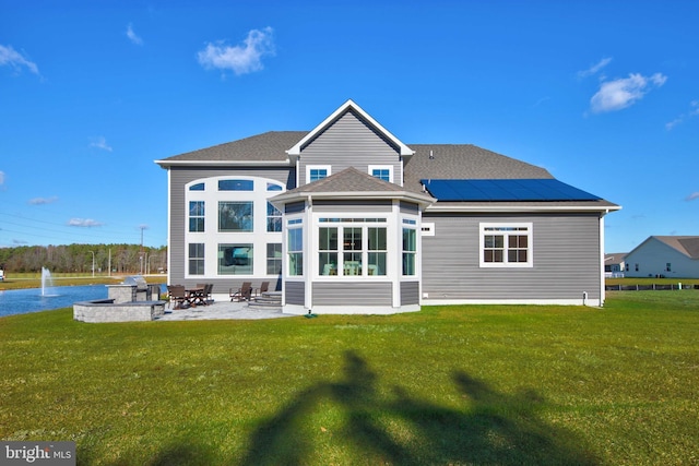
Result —
<instances>
[{"instance_id":1,"label":"row of distant trees behind the pond, left of the house","mask_svg":"<svg viewBox=\"0 0 699 466\"><path fill-rule=\"evenodd\" d=\"M0 248L0 267L9 273L147 274L164 272L167 267L167 247L140 244L62 244L21 246Z\"/></svg>"}]
</instances>

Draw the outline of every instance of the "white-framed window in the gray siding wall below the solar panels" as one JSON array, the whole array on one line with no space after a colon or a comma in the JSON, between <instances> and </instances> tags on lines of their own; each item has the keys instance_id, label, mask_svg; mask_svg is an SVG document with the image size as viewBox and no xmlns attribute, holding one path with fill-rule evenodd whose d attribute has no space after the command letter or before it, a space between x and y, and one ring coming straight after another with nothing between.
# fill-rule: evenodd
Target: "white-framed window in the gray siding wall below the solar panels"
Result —
<instances>
[{"instance_id":1,"label":"white-framed window in the gray siding wall below the solar panels","mask_svg":"<svg viewBox=\"0 0 699 466\"><path fill-rule=\"evenodd\" d=\"M481 224L482 267L531 267L532 224Z\"/></svg>"}]
</instances>

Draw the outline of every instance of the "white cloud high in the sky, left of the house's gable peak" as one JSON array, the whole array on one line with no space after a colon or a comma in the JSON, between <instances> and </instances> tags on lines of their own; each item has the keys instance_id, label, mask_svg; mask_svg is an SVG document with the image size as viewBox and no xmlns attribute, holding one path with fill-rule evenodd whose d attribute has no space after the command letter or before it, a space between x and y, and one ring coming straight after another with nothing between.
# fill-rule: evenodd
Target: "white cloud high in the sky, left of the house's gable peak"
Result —
<instances>
[{"instance_id":1,"label":"white cloud high in the sky, left of the house's gable peak","mask_svg":"<svg viewBox=\"0 0 699 466\"><path fill-rule=\"evenodd\" d=\"M244 45L209 43L198 53L199 63L205 69L232 70L237 75L260 71L264 68L262 57L274 55L273 32L271 27L252 29Z\"/></svg>"}]
</instances>

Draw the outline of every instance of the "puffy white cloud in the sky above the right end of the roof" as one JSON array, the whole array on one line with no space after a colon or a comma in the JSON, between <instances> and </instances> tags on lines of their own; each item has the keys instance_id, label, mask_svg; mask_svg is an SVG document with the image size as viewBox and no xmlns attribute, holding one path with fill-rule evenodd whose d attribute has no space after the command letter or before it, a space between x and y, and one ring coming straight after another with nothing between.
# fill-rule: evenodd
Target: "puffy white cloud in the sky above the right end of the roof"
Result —
<instances>
[{"instance_id":1,"label":"puffy white cloud in the sky above the right end of the roof","mask_svg":"<svg viewBox=\"0 0 699 466\"><path fill-rule=\"evenodd\" d=\"M604 82L600 85L600 91L590 99L590 109L593 113L602 113L630 107L652 88L665 84L665 81L667 76L661 73L652 76L631 73L628 77Z\"/></svg>"}]
</instances>

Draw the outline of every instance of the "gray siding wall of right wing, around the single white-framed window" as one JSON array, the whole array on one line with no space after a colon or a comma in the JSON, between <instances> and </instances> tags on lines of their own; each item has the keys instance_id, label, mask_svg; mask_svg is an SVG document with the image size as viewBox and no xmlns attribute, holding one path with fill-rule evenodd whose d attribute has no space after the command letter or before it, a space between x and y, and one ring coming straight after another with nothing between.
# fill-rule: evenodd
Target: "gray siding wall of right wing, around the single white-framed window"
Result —
<instances>
[{"instance_id":1,"label":"gray siding wall of right wing, around the single white-framed window","mask_svg":"<svg viewBox=\"0 0 699 466\"><path fill-rule=\"evenodd\" d=\"M596 214L436 215L435 236L422 238L423 288L427 299L600 298L600 218ZM479 266L479 223L531 222L533 266Z\"/></svg>"}]
</instances>

